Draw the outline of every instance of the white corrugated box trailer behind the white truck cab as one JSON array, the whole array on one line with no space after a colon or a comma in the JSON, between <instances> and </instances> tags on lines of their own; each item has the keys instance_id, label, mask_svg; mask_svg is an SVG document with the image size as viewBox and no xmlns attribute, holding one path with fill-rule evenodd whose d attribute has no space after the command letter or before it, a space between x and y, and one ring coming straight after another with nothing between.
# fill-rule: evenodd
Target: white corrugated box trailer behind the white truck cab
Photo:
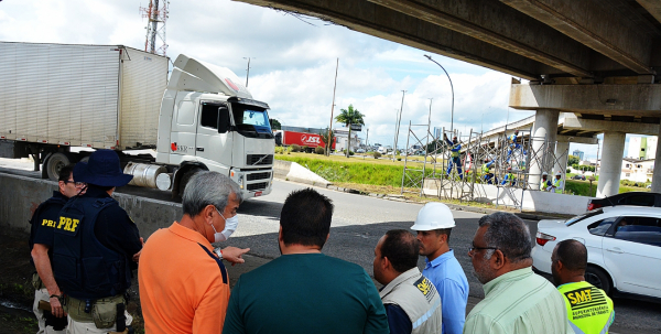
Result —
<instances>
[{"instance_id":1,"label":"white corrugated box trailer behind the white truck cab","mask_svg":"<svg viewBox=\"0 0 661 334\"><path fill-rule=\"evenodd\" d=\"M0 139L155 148L167 63L122 45L0 42Z\"/></svg>"}]
</instances>

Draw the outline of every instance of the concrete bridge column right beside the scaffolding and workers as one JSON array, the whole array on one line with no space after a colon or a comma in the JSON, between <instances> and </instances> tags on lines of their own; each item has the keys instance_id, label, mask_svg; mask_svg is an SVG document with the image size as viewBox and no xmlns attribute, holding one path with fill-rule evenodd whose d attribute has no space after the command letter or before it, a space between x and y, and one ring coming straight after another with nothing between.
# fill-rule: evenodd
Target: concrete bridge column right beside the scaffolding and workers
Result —
<instances>
[{"instance_id":1,"label":"concrete bridge column right beside the scaffolding and workers","mask_svg":"<svg viewBox=\"0 0 661 334\"><path fill-rule=\"evenodd\" d=\"M555 144L555 138L557 137L559 116L560 111L551 109L539 109L535 112L534 125L532 126L531 132L532 152L528 152L528 154L543 154L544 152L540 149L545 143L550 144L550 147L546 147L546 151L550 149L551 152L553 152L553 146ZM546 139L546 141L544 141L544 139ZM540 188L542 172L549 172L549 174L551 174L551 171L542 171L542 165L538 163L538 161L542 160L541 158L542 157L531 157L530 159L530 175L528 182L532 190Z\"/></svg>"}]
</instances>

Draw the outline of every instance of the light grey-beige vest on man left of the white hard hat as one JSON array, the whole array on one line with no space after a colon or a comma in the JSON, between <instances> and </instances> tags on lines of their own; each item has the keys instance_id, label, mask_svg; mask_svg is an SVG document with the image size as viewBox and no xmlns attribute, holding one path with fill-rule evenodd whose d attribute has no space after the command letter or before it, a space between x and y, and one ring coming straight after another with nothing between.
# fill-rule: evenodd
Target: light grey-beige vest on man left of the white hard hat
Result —
<instances>
[{"instance_id":1,"label":"light grey-beige vest on man left of the white hard hat","mask_svg":"<svg viewBox=\"0 0 661 334\"><path fill-rule=\"evenodd\" d=\"M384 305L402 308L413 325L412 334L441 333L441 297L434 283L422 276L418 268L402 272L379 295Z\"/></svg>"}]
</instances>

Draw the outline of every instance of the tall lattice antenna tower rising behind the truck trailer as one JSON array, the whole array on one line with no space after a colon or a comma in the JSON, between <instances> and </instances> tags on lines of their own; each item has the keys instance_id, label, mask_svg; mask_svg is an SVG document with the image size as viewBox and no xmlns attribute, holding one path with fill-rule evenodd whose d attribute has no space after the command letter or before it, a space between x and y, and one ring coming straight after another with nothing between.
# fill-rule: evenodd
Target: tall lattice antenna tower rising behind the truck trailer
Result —
<instances>
[{"instance_id":1,"label":"tall lattice antenna tower rising behind the truck trailer","mask_svg":"<svg viewBox=\"0 0 661 334\"><path fill-rule=\"evenodd\" d=\"M167 20L167 0L150 0L149 7L140 8L142 18L147 18L147 39L144 51L153 54L165 55L167 43L165 43L165 21ZM159 24L160 23L160 24ZM160 40L156 44L156 37Z\"/></svg>"}]
</instances>

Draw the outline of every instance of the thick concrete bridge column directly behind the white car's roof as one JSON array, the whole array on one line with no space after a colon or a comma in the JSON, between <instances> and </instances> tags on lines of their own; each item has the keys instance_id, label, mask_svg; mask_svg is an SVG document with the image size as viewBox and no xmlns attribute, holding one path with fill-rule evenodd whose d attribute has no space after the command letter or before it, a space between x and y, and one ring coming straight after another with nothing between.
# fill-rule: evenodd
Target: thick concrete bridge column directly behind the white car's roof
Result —
<instances>
[{"instance_id":1,"label":"thick concrete bridge column directly behind the white car's roof","mask_svg":"<svg viewBox=\"0 0 661 334\"><path fill-rule=\"evenodd\" d=\"M626 133L604 132L604 154L599 168L599 184L597 197L616 195L619 192L619 180L622 173L622 158L625 155ZM655 164L654 164L654 168Z\"/></svg>"}]
</instances>

